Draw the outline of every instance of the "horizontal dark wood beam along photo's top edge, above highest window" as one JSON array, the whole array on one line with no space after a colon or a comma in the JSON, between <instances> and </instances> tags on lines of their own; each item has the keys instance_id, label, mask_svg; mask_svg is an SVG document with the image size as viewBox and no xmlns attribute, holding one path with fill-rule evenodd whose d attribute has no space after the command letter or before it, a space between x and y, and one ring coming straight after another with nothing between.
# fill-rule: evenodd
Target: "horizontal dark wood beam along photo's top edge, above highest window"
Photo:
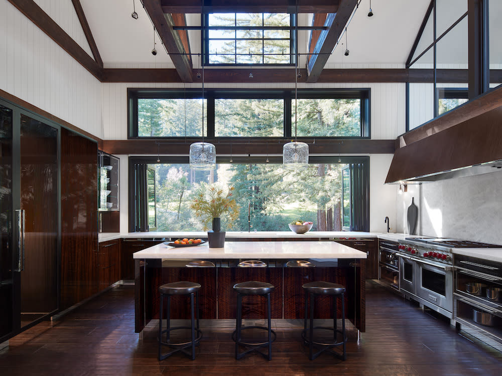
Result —
<instances>
[{"instance_id":1,"label":"horizontal dark wood beam along photo's top edge, above highest window","mask_svg":"<svg viewBox=\"0 0 502 376\"><path fill-rule=\"evenodd\" d=\"M214 13L296 13L291 0L212 0L204 12ZM164 13L202 13L201 0L161 0ZM298 0L298 13L336 13L339 0Z\"/></svg>"}]
</instances>

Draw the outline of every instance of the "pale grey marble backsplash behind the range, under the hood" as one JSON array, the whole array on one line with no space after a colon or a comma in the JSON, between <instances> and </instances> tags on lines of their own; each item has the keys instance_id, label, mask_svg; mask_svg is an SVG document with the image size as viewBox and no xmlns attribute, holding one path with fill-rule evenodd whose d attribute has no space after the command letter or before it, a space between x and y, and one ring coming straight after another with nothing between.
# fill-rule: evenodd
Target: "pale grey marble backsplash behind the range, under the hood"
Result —
<instances>
[{"instance_id":1,"label":"pale grey marble backsplash behind the range, under the hood","mask_svg":"<svg viewBox=\"0 0 502 376\"><path fill-rule=\"evenodd\" d=\"M411 197L419 234L502 245L502 171L408 185L397 198L397 232L407 233Z\"/></svg>"}]
</instances>

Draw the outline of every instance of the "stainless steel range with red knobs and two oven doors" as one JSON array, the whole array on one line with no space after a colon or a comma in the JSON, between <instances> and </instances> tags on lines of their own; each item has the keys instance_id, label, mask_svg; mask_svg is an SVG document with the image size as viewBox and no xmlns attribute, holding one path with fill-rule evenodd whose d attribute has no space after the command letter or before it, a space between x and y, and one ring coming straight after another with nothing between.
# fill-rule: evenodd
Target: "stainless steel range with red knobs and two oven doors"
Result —
<instances>
[{"instance_id":1,"label":"stainless steel range with red knobs and two oven doors","mask_svg":"<svg viewBox=\"0 0 502 376\"><path fill-rule=\"evenodd\" d=\"M400 291L453 318L453 248L490 248L492 244L444 238L406 238L399 242Z\"/></svg>"}]
</instances>

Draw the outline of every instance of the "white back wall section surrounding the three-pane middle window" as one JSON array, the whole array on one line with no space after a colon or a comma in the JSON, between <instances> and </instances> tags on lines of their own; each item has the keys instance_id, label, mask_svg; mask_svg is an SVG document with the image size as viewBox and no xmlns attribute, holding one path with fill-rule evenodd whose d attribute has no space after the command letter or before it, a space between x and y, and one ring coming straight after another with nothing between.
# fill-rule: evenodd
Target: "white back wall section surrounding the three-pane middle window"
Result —
<instances>
[{"instance_id":1,"label":"white back wall section surrounding the three-pane middle window","mask_svg":"<svg viewBox=\"0 0 502 376\"><path fill-rule=\"evenodd\" d=\"M127 139L127 88L183 88L179 84L103 83L103 138ZM294 84L205 84L205 88L294 88ZM187 84L186 88L200 88ZM304 88L370 88L371 138L394 139L405 132L406 86L404 83L298 84Z\"/></svg>"}]
</instances>

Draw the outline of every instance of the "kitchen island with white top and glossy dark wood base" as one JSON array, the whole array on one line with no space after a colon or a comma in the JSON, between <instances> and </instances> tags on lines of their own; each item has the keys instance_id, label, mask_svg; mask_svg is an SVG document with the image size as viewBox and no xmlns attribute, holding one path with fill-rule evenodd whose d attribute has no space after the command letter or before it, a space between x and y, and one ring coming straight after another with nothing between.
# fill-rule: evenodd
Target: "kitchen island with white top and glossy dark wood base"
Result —
<instances>
[{"instance_id":1,"label":"kitchen island with white top and glossy dark wood base","mask_svg":"<svg viewBox=\"0 0 502 376\"><path fill-rule=\"evenodd\" d=\"M304 314L306 282L324 280L342 284L345 316L355 327L365 330L364 270L366 253L333 241L226 241L224 248L209 248L207 243L174 248L164 243L133 255L135 260L135 331L141 332L152 319L159 317L158 287L164 283L188 280L201 284L201 319L235 318L235 283L259 280L276 286L272 293L272 318L300 319ZM193 268L193 260L211 261L215 266ZM261 260L266 267L238 267L242 260ZM290 268L291 260L307 260L315 267ZM177 299L179 298L179 299ZM249 299L243 306L245 318L265 317L264 305ZM332 304L325 297L316 302L318 318L332 317ZM174 297L173 318L189 317L183 297Z\"/></svg>"}]
</instances>

